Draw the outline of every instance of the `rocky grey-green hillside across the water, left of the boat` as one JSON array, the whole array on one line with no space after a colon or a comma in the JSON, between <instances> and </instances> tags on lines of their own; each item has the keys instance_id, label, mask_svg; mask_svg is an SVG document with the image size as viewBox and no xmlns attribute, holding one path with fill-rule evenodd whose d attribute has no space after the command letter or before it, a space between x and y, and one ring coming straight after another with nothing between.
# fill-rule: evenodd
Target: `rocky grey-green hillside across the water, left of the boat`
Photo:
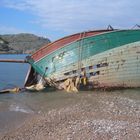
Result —
<instances>
[{"instance_id":1,"label":"rocky grey-green hillside across the water, left of the boat","mask_svg":"<svg viewBox=\"0 0 140 140\"><path fill-rule=\"evenodd\" d=\"M33 53L50 40L33 34L0 35L0 53Z\"/></svg>"}]
</instances>

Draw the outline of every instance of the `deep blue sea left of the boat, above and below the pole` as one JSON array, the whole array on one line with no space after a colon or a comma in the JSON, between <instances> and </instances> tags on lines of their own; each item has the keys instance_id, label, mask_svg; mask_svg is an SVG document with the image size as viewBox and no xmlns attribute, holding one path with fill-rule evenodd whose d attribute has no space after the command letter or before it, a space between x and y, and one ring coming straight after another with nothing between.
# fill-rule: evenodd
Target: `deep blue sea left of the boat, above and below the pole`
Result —
<instances>
[{"instance_id":1,"label":"deep blue sea left of the boat, above and below the pole","mask_svg":"<svg viewBox=\"0 0 140 140\"><path fill-rule=\"evenodd\" d=\"M25 59L27 55L0 55L0 59ZM0 63L0 89L22 87L29 64Z\"/></svg>"}]
</instances>

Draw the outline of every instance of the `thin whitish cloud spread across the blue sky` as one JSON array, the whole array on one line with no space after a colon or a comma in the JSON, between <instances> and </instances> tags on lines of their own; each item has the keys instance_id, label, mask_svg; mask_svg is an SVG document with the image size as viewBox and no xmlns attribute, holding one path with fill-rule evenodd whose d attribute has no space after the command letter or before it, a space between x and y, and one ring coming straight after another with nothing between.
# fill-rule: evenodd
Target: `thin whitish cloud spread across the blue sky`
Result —
<instances>
[{"instance_id":1,"label":"thin whitish cloud spread across the blue sky","mask_svg":"<svg viewBox=\"0 0 140 140\"><path fill-rule=\"evenodd\" d=\"M45 29L66 33L140 23L138 0L3 0L3 5L35 15L32 23Z\"/></svg>"}]
</instances>

